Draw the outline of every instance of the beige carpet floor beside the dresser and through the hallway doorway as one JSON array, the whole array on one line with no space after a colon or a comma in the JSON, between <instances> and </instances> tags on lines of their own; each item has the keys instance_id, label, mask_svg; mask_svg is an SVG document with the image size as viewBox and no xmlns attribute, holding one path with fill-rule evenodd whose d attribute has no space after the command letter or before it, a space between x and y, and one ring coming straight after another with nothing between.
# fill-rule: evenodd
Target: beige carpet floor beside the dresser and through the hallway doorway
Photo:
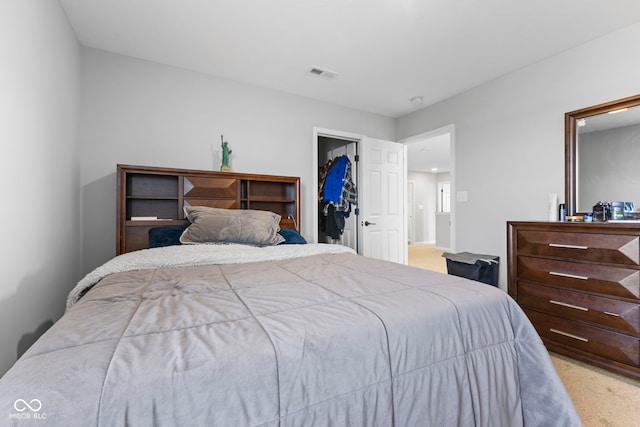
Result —
<instances>
[{"instance_id":1,"label":"beige carpet floor beside the dresser and through the hallway doorway","mask_svg":"<svg viewBox=\"0 0 640 427\"><path fill-rule=\"evenodd\" d=\"M432 244L409 245L409 265L447 272L442 251ZM640 427L640 381L550 355L584 427Z\"/></svg>"}]
</instances>

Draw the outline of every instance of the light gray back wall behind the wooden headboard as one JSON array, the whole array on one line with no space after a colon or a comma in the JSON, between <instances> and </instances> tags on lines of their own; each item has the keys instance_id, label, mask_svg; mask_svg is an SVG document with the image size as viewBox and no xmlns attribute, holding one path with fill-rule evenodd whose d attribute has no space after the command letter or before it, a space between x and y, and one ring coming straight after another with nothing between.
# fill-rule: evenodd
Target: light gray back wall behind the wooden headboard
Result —
<instances>
[{"instance_id":1,"label":"light gray back wall behind the wooden headboard","mask_svg":"<svg viewBox=\"0 0 640 427\"><path fill-rule=\"evenodd\" d=\"M83 269L115 254L116 164L300 176L312 236L313 127L395 136L393 119L94 49L82 50ZM212 154L212 149L215 154Z\"/></svg>"}]
</instances>

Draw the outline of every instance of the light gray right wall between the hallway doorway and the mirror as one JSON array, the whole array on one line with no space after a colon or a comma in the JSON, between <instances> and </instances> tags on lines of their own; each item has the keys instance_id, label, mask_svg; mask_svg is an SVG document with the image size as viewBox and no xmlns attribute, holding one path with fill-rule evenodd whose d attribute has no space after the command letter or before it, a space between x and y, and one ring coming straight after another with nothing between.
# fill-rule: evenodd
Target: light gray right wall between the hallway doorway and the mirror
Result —
<instances>
[{"instance_id":1,"label":"light gray right wall between the hallway doorway and the mirror","mask_svg":"<svg viewBox=\"0 0 640 427\"><path fill-rule=\"evenodd\" d=\"M403 139L455 125L456 251L499 255L506 222L546 220L564 198L564 113L640 93L640 24L520 69L397 121Z\"/></svg>"}]
</instances>

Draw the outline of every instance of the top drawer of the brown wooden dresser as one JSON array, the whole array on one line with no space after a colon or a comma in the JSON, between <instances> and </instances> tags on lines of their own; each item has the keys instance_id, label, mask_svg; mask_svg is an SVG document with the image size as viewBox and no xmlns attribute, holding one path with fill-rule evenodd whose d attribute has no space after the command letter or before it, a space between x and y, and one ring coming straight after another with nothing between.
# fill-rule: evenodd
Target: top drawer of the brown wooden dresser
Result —
<instances>
[{"instance_id":1,"label":"top drawer of the brown wooden dresser","mask_svg":"<svg viewBox=\"0 0 640 427\"><path fill-rule=\"evenodd\" d=\"M640 265L640 236L519 230L517 238L523 255Z\"/></svg>"}]
</instances>

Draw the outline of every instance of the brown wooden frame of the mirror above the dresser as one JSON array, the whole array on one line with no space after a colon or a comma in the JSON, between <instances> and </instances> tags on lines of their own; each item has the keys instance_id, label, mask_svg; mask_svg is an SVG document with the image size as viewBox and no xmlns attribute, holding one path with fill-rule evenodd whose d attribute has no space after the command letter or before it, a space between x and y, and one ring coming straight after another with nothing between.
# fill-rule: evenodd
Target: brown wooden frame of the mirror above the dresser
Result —
<instances>
[{"instance_id":1,"label":"brown wooden frame of the mirror above the dresser","mask_svg":"<svg viewBox=\"0 0 640 427\"><path fill-rule=\"evenodd\" d=\"M608 113L609 111L619 110L621 108L629 108L640 105L640 95L630 96L628 98L618 99L616 101L605 102L604 104L594 105L592 107L582 108L580 110L571 111L564 115L564 200L567 206L567 215L576 215L584 212L576 212L578 208L576 204L576 156L577 156L577 137L576 122L580 119L598 114Z\"/></svg>"}]
</instances>

